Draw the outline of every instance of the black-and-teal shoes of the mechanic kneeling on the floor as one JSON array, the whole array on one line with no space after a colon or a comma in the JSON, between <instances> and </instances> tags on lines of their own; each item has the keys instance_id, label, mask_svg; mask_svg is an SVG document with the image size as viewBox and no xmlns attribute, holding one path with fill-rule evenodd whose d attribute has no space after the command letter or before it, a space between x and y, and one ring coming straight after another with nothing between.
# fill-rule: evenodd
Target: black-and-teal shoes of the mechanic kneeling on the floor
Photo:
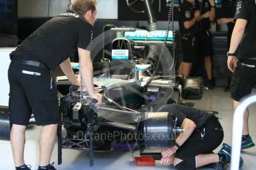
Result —
<instances>
[{"instance_id":1,"label":"black-and-teal shoes of the mechanic kneeling on the floor","mask_svg":"<svg viewBox=\"0 0 256 170\"><path fill-rule=\"evenodd\" d=\"M220 163L230 163L231 162L231 151L232 151L231 146L229 146L226 143L223 143L223 146L220 149L220 152L218 152L218 154L225 155L225 157L220 157ZM242 168L242 166L243 166L243 158L240 157L239 168Z\"/></svg>"}]
</instances>

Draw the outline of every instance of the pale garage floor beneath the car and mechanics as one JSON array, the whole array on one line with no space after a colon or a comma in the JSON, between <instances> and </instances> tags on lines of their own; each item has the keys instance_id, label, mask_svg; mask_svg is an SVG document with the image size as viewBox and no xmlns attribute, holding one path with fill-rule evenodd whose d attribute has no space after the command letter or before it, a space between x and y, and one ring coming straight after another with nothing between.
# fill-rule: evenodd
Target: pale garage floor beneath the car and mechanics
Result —
<instances>
[{"instance_id":1,"label":"pale garage floor beneath the car and mechanics","mask_svg":"<svg viewBox=\"0 0 256 170\"><path fill-rule=\"evenodd\" d=\"M220 123L223 125L225 137L223 142L231 144L232 141L232 99L229 92L223 92L222 88L205 91L203 99L200 101L191 101L195 103L194 107L205 110L214 110L219 112L217 115L220 118ZM249 128L252 139L256 142L256 106L250 106ZM26 163L37 169L38 165L38 132L39 127L32 127L27 130L27 144L25 148ZM57 145L56 145L57 146ZM220 149L216 149L217 152ZM135 154L138 154L135 152ZM94 166L89 166L88 152L67 150L63 151L62 165L57 166L57 147L54 148L52 161L55 162L55 167L58 170L83 170L83 169L172 169L171 166L161 166L157 161L156 166L134 166L132 157L127 148L114 149L113 152L95 153ZM242 152L244 160L243 169L256 169L256 146ZM4 165L4 166L2 166ZM230 168L230 166L229 166ZM228 168L228 169L229 169ZM10 143L0 141L0 170L14 169L13 160L11 157Z\"/></svg>"}]
</instances>

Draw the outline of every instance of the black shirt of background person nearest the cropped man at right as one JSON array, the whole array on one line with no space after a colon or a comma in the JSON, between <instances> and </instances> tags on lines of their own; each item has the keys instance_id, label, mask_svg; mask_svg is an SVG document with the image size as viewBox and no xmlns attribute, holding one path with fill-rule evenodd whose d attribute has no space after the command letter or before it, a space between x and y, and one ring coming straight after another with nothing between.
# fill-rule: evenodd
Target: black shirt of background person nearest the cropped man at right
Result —
<instances>
[{"instance_id":1,"label":"black shirt of background person nearest the cropped man at right","mask_svg":"<svg viewBox=\"0 0 256 170\"><path fill-rule=\"evenodd\" d=\"M216 15L219 18L233 18L237 0L215 0Z\"/></svg>"}]
</instances>

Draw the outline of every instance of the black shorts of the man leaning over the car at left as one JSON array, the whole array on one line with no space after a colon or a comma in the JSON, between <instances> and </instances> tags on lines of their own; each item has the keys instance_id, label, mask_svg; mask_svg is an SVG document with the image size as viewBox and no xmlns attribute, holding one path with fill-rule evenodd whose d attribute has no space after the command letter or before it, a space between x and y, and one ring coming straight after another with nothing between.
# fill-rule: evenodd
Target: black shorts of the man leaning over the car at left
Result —
<instances>
[{"instance_id":1,"label":"black shorts of the man leaning over the car at left","mask_svg":"<svg viewBox=\"0 0 256 170\"><path fill-rule=\"evenodd\" d=\"M13 59L8 78L11 124L27 126L32 114L39 126L60 122L58 91L49 69L19 64Z\"/></svg>"}]
</instances>

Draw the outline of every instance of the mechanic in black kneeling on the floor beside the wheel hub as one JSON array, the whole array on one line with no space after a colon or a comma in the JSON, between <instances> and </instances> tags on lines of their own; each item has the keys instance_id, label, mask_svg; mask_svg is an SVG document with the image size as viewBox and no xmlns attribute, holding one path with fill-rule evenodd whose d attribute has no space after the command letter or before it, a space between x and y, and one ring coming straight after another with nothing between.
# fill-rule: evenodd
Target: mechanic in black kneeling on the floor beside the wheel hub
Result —
<instances>
[{"instance_id":1,"label":"mechanic in black kneeling on the floor beside the wheel hub","mask_svg":"<svg viewBox=\"0 0 256 170\"><path fill-rule=\"evenodd\" d=\"M213 152L222 143L224 135L215 115L178 104L168 104L157 111L171 112L174 124L185 129L185 132L177 136L174 146L162 149L161 164L173 164L180 170L197 169L202 166L226 169L227 163L231 161L232 149L223 143L220 152ZM242 157L240 166L243 166Z\"/></svg>"}]
</instances>

